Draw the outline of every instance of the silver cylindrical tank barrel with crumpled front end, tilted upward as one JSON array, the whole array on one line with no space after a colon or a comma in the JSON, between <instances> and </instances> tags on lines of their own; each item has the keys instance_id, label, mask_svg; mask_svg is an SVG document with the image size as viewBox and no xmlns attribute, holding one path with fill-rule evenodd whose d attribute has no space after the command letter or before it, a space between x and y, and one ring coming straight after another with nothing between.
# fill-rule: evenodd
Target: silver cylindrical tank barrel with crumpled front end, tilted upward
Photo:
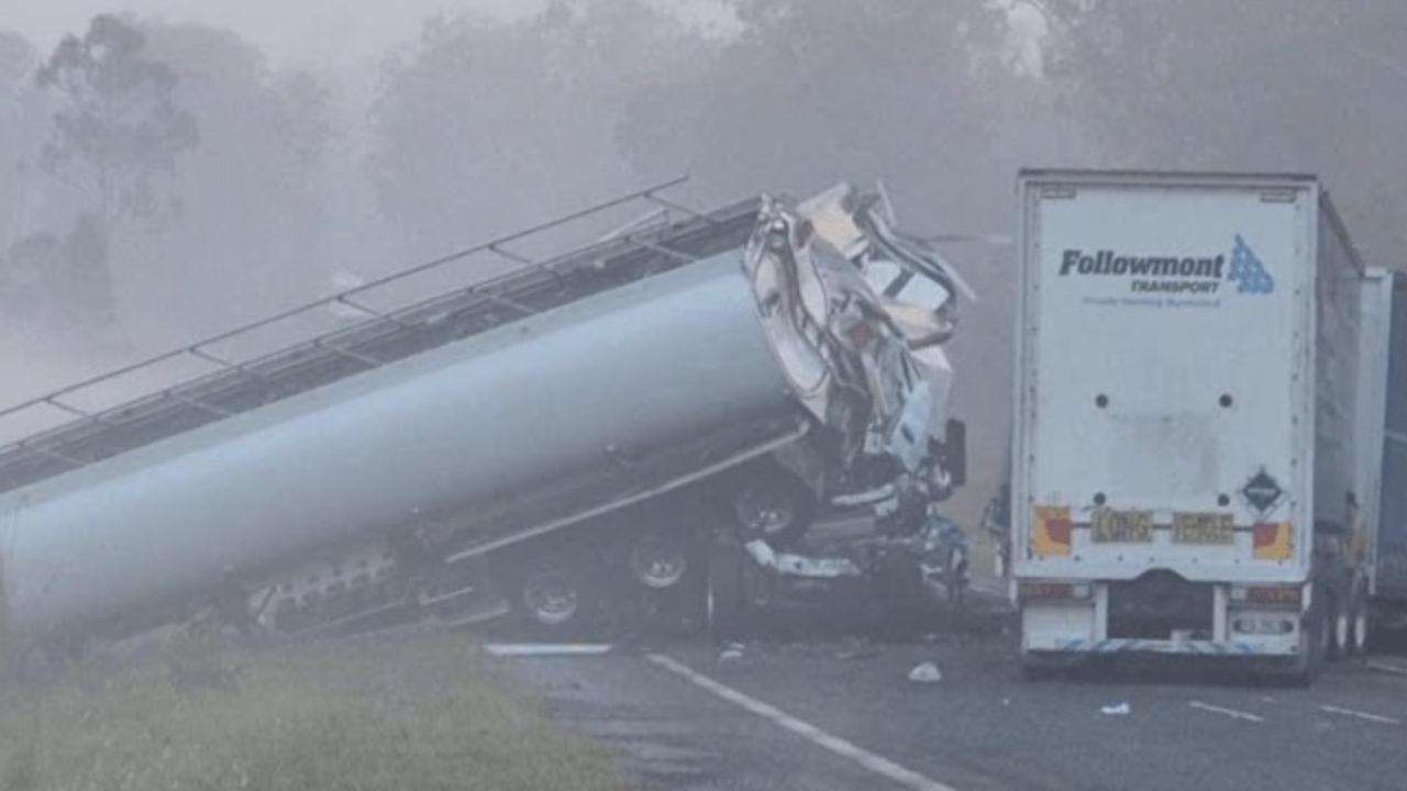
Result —
<instances>
[{"instance_id":1,"label":"silver cylindrical tank barrel with crumpled front end, tilted upward","mask_svg":"<svg viewBox=\"0 0 1407 791\"><path fill-rule=\"evenodd\" d=\"M764 208L761 222L782 214ZM868 357L902 341L861 310L872 294L841 256L795 236L787 265L757 276L743 253L756 217L754 201L630 234L0 453L0 473L23 473L0 494L0 647L155 625L224 580L416 521L514 522L566 493L515 529L567 525L808 426L896 436L900 373ZM806 289L808 310L777 312ZM453 339L424 342L450 314L466 319ZM307 360L364 369L274 386ZM241 396L250 380L260 398ZM186 407L205 417L180 431L172 410Z\"/></svg>"}]
</instances>

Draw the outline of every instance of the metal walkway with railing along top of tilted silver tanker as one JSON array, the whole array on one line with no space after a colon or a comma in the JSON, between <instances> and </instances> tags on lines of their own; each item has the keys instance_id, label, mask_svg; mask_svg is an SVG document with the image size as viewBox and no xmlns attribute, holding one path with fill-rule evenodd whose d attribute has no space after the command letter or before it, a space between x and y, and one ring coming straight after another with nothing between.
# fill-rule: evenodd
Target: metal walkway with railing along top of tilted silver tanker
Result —
<instances>
[{"instance_id":1,"label":"metal walkway with railing along top of tilted silver tanker","mask_svg":"<svg viewBox=\"0 0 1407 791\"><path fill-rule=\"evenodd\" d=\"M661 194L684 180L615 197L0 410L0 431L7 419L58 418L56 425L0 446L0 493L741 246L757 201L695 211ZM622 215L632 218L620 224ZM604 221L613 224L604 232L591 228ZM522 252L533 242L550 251L552 236L568 225L577 234L591 231L592 241L547 255ZM477 279L469 273L467 281L450 273L428 297L393 296L416 276L440 276L447 265L476 256L511 269ZM377 293L391 304L373 304ZM335 327L295 327L326 321ZM221 349L276 327L293 335L280 338L273 350L238 356ZM173 381L159 372L193 363L196 373ZM167 380L142 387L136 397L131 391L110 401L100 397L114 383L145 379ZM84 394L98 403L83 403Z\"/></svg>"}]
</instances>

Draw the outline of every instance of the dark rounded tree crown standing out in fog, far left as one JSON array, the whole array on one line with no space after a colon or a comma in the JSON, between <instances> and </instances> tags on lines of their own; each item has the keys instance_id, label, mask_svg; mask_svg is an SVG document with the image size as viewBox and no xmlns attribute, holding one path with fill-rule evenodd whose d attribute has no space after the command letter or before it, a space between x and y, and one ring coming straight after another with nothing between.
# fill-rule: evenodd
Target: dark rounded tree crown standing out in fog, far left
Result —
<instances>
[{"instance_id":1,"label":"dark rounded tree crown standing out in fog, far left","mask_svg":"<svg viewBox=\"0 0 1407 791\"><path fill-rule=\"evenodd\" d=\"M196 120L172 99L176 72L144 46L141 31L98 15L83 38L59 42L37 76L63 103L44 162L82 179L106 222L153 215L155 175L198 139Z\"/></svg>"}]
</instances>

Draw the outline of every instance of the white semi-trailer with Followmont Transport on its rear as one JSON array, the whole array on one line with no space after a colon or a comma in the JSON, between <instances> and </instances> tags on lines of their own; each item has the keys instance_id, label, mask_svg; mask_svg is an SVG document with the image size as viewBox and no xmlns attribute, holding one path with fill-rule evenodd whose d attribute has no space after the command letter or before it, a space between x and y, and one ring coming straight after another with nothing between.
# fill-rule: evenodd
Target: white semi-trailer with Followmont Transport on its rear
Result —
<instances>
[{"instance_id":1,"label":"white semi-trailer with Followmont Transport on its rear","mask_svg":"<svg viewBox=\"0 0 1407 791\"><path fill-rule=\"evenodd\" d=\"M1026 170L1010 562L1031 671L1359 622L1363 266L1314 177Z\"/></svg>"}]
</instances>

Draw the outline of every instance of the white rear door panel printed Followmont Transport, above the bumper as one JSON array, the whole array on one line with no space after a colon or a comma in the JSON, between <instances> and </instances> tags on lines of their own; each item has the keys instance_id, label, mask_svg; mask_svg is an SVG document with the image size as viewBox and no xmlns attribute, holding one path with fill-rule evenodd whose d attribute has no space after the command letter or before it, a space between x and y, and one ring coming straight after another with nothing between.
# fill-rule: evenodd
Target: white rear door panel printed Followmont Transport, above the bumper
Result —
<instances>
[{"instance_id":1,"label":"white rear door panel printed Followmont Transport, above the bumper","mask_svg":"<svg viewBox=\"0 0 1407 791\"><path fill-rule=\"evenodd\" d=\"M1303 580L1314 182L1027 173L1021 194L1017 574Z\"/></svg>"}]
</instances>

